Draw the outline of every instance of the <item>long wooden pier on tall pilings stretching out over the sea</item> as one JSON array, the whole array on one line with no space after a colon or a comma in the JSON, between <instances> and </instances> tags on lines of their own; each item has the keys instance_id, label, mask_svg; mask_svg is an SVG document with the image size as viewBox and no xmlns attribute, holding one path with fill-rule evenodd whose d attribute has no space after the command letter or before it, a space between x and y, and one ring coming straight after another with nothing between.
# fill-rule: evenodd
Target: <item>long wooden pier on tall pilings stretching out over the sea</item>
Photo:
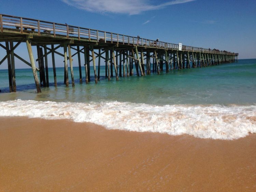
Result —
<instances>
[{"instance_id":1,"label":"long wooden pier on tall pilings stretching out over the sea","mask_svg":"<svg viewBox=\"0 0 256 192\"><path fill-rule=\"evenodd\" d=\"M151 73L160 74L164 70L168 73L171 70L201 68L238 61L238 53L179 46L158 39L149 40L139 36L133 37L4 14L0 14L0 42L5 43L0 43L6 51L0 65L7 59L10 92L16 92L15 57L32 68L37 92L41 92L41 86L49 86L48 55L52 55L55 86L57 86L55 54L64 58L66 86L69 86L68 62L71 83L75 86L72 59L75 55L78 57L80 83L82 83L82 66L85 66L85 82L90 82L89 69L92 62L96 84L100 74L100 67L98 72L96 71L96 58L99 66L102 65L102 59L105 62L105 76L109 80L114 76L113 72L118 80L119 77L132 76L134 71L137 76L144 76ZM14 53L23 42L27 45L30 61ZM32 46L37 46L37 57L32 53ZM60 47L63 47L63 53L57 51ZM72 54L71 50L75 53ZM85 63L81 63L81 54L84 55ZM38 67L35 62L38 62Z\"/></svg>"}]
</instances>

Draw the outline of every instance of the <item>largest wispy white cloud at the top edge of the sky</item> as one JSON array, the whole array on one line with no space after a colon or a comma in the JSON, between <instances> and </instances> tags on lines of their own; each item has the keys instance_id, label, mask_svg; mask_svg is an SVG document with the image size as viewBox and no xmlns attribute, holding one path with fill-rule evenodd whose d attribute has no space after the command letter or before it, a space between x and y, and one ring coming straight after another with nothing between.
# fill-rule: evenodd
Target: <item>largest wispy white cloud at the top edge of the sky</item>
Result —
<instances>
[{"instance_id":1,"label":"largest wispy white cloud at the top edge of the sky","mask_svg":"<svg viewBox=\"0 0 256 192\"><path fill-rule=\"evenodd\" d=\"M62 0L78 9L99 12L137 15L145 11L165 8L169 5L187 3L195 0L172 0L161 4L151 4L150 0Z\"/></svg>"}]
</instances>

